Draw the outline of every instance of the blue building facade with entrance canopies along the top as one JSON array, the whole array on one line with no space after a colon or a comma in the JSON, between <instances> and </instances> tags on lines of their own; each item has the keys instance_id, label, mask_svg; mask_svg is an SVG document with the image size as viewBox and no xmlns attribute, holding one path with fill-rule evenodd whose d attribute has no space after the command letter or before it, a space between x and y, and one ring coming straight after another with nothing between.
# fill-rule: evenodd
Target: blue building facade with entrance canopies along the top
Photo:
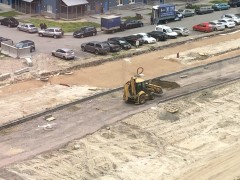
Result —
<instances>
[{"instance_id":1,"label":"blue building facade with entrance canopies along the top","mask_svg":"<svg viewBox=\"0 0 240 180\"><path fill-rule=\"evenodd\" d=\"M147 0L0 0L0 3L8 4L22 13L68 20L104 13L113 7L147 3Z\"/></svg>"}]
</instances>

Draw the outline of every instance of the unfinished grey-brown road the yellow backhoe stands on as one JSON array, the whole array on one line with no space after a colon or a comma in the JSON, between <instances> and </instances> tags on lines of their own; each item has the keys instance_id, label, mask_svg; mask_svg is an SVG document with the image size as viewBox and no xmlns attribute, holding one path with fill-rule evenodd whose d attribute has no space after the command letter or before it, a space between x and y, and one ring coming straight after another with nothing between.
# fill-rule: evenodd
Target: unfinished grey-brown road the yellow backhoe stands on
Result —
<instances>
[{"instance_id":1,"label":"unfinished grey-brown road the yellow backhoe stands on","mask_svg":"<svg viewBox=\"0 0 240 180\"><path fill-rule=\"evenodd\" d=\"M56 111L52 113L56 118L52 122L39 117L1 130L0 167L58 148L71 140L91 134L103 126L156 106L164 99L240 77L239 64L237 57L165 77L162 80L177 82L181 87L164 92L161 97L147 101L144 106L124 103L122 91L119 91ZM187 77L181 78L186 74ZM46 129L47 124L51 124L52 128Z\"/></svg>"}]
</instances>

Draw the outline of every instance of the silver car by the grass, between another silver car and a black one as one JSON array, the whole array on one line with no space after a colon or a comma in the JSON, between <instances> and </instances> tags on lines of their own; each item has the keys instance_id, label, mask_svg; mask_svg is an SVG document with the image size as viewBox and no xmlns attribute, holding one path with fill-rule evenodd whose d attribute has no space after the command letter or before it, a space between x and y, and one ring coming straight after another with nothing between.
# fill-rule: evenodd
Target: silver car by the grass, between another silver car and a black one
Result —
<instances>
[{"instance_id":1,"label":"silver car by the grass, between another silver car and a black one","mask_svg":"<svg viewBox=\"0 0 240 180\"><path fill-rule=\"evenodd\" d=\"M53 38L60 38L64 35L64 32L59 27L49 27L47 29L42 29L38 31L38 35L40 37L47 36L47 37L53 37Z\"/></svg>"}]
</instances>

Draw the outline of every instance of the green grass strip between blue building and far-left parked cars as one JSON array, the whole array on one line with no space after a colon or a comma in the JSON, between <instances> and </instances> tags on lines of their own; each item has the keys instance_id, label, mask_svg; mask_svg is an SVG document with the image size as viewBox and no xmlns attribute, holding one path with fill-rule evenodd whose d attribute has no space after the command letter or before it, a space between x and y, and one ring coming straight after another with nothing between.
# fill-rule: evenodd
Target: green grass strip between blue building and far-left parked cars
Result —
<instances>
[{"instance_id":1,"label":"green grass strip between blue building and far-left parked cars","mask_svg":"<svg viewBox=\"0 0 240 180\"><path fill-rule=\"evenodd\" d=\"M25 20L25 23L32 23L36 27L40 27L40 23L45 23L47 27L61 27L64 32L74 32L77 29L80 29L83 26L93 26L93 27L100 27L98 23L94 22L58 22L46 19L29 19Z\"/></svg>"}]
</instances>

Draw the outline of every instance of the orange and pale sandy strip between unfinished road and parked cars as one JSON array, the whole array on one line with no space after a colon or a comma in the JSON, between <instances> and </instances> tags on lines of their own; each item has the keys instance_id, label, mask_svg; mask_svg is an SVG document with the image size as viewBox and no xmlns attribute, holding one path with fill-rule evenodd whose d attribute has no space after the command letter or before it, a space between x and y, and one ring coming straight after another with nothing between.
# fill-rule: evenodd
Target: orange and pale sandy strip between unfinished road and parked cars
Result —
<instances>
[{"instance_id":1,"label":"orange and pale sandy strip between unfinished road and parked cars","mask_svg":"<svg viewBox=\"0 0 240 180\"><path fill-rule=\"evenodd\" d=\"M140 66L144 67L144 78L149 79L202 63L236 56L239 54L239 39L240 32L227 35L223 33L223 35L203 38L174 48L76 70L72 75L55 75L50 77L48 82L30 80L4 86L0 88L0 116L2 117L0 123L98 93L100 89L120 87L136 73L136 69ZM235 51L220 53L229 50ZM176 59L176 52L180 52L178 59ZM40 63L40 69L48 66L47 62L50 59L45 57L45 60L45 63ZM9 63L8 66L5 63L5 71L15 67L13 62L9 61ZM19 61L15 63L20 66ZM55 67L56 62L52 63L48 68Z\"/></svg>"}]
</instances>

